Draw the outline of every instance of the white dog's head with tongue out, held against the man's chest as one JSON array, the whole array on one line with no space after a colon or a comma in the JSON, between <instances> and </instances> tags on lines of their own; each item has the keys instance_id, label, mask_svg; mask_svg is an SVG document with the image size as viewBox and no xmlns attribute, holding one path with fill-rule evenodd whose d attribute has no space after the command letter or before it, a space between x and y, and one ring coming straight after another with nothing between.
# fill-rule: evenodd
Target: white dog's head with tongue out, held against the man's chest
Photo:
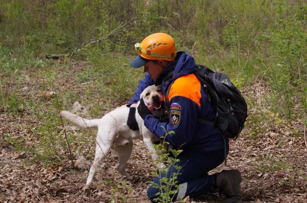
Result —
<instances>
[{"instance_id":1,"label":"white dog's head with tongue out, held against the man's chest","mask_svg":"<svg viewBox=\"0 0 307 203\"><path fill-rule=\"evenodd\" d=\"M145 105L153 115L164 115L164 95L161 92L161 85L146 87L140 98L144 100Z\"/></svg>"}]
</instances>

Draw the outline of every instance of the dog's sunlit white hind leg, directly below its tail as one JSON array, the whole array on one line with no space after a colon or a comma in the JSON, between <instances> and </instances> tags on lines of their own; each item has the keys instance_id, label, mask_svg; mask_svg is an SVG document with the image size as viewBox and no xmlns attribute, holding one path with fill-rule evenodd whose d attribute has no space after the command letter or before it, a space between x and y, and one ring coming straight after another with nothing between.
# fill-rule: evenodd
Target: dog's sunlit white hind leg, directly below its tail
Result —
<instances>
[{"instance_id":1,"label":"dog's sunlit white hind leg, directly below its tail","mask_svg":"<svg viewBox=\"0 0 307 203\"><path fill-rule=\"evenodd\" d=\"M116 129L109 129L109 131L107 131L106 129L98 128L95 158L90 172L88 173L86 185L89 185L93 181L96 170L99 168L102 161L107 157L107 154L109 153L114 142L115 135Z\"/></svg>"}]
</instances>

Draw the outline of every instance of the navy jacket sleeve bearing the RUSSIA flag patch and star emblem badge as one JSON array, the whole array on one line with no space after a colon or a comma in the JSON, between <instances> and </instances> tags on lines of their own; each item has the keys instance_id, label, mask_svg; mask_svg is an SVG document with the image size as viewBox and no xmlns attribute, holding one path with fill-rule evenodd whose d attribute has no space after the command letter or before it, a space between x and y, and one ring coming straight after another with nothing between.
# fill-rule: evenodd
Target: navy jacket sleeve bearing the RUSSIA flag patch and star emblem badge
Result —
<instances>
[{"instance_id":1,"label":"navy jacket sleeve bearing the RUSSIA flag patch and star emblem badge","mask_svg":"<svg viewBox=\"0 0 307 203\"><path fill-rule=\"evenodd\" d=\"M187 145L196 131L197 108L200 108L194 101L183 96L175 96L171 99L169 108L169 120L163 122L152 115L147 115L144 125L158 138L165 136L165 131L174 131L165 140L173 146Z\"/></svg>"}]
</instances>

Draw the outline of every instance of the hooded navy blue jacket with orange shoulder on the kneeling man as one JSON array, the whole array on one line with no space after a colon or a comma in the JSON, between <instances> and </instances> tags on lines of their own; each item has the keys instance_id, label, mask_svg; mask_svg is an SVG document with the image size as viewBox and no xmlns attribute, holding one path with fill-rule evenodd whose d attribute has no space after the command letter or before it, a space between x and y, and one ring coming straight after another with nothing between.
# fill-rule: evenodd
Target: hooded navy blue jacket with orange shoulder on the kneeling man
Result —
<instances>
[{"instance_id":1,"label":"hooded navy blue jacket with orange shoulder on the kneeling man","mask_svg":"<svg viewBox=\"0 0 307 203\"><path fill-rule=\"evenodd\" d=\"M195 67L192 56L178 52L175 62L165 68L157 82L153 81L148 73L145 74L128 105L136 103L146 87L155 83L161 84L165 94L168 84L174 81L168 96L170 106L165 106L166 121L147 115L144 125L158 138L165 136L161 126L167 131L174 131L175 133L167 135L165 140L181 149L204 152L223 149L224 140L216 128L196 121L197 118L214 121L216 111L200 81L191 74ZM228 146L228 138L225 137L225 140Z\"/></svg>"}]
</instances>

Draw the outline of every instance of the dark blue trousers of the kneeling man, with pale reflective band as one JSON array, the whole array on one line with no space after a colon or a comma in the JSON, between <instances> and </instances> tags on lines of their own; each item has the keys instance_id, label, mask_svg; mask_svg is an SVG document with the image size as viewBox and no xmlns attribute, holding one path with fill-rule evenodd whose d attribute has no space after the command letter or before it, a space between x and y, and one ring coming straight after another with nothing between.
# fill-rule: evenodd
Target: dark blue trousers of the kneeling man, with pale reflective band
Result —
<instances>
[{"instance_id":1,"label":"dark blue trousers of the kneeling man, with pale reflective band","mask_svg":"<svg viewBox=\"0 0 307 203\"><path fill-rule=\"evenodd\" d=\"M227 154L229 148L227 147ZM184 150L178 156L180 159L176 163L177 166L181 166L179 175L177 176L178 184L180 184L179 192L172 197L172 200L179 200L180 196L191 198L197 197L206 192L212 191L214 188L214 180L212 175L208 175L208 172L223 163L225 159L224 149L211 151L211 152L199 152L194 150ZM167 174L167 178L172 176L172 173L177 173L175 166L171 166ZM164 173L153 179L154 183L161 184L159 182L160 176L165 177ZM182 188L181 188L182 187ZM176 189L175 187L172 190ZM154 188L151 184L147 190L147 196L152 202L154 198L159 197L157 193L158 188ZM178 196L178 197L177 197Z\"/></svg>"}]
</instances>

